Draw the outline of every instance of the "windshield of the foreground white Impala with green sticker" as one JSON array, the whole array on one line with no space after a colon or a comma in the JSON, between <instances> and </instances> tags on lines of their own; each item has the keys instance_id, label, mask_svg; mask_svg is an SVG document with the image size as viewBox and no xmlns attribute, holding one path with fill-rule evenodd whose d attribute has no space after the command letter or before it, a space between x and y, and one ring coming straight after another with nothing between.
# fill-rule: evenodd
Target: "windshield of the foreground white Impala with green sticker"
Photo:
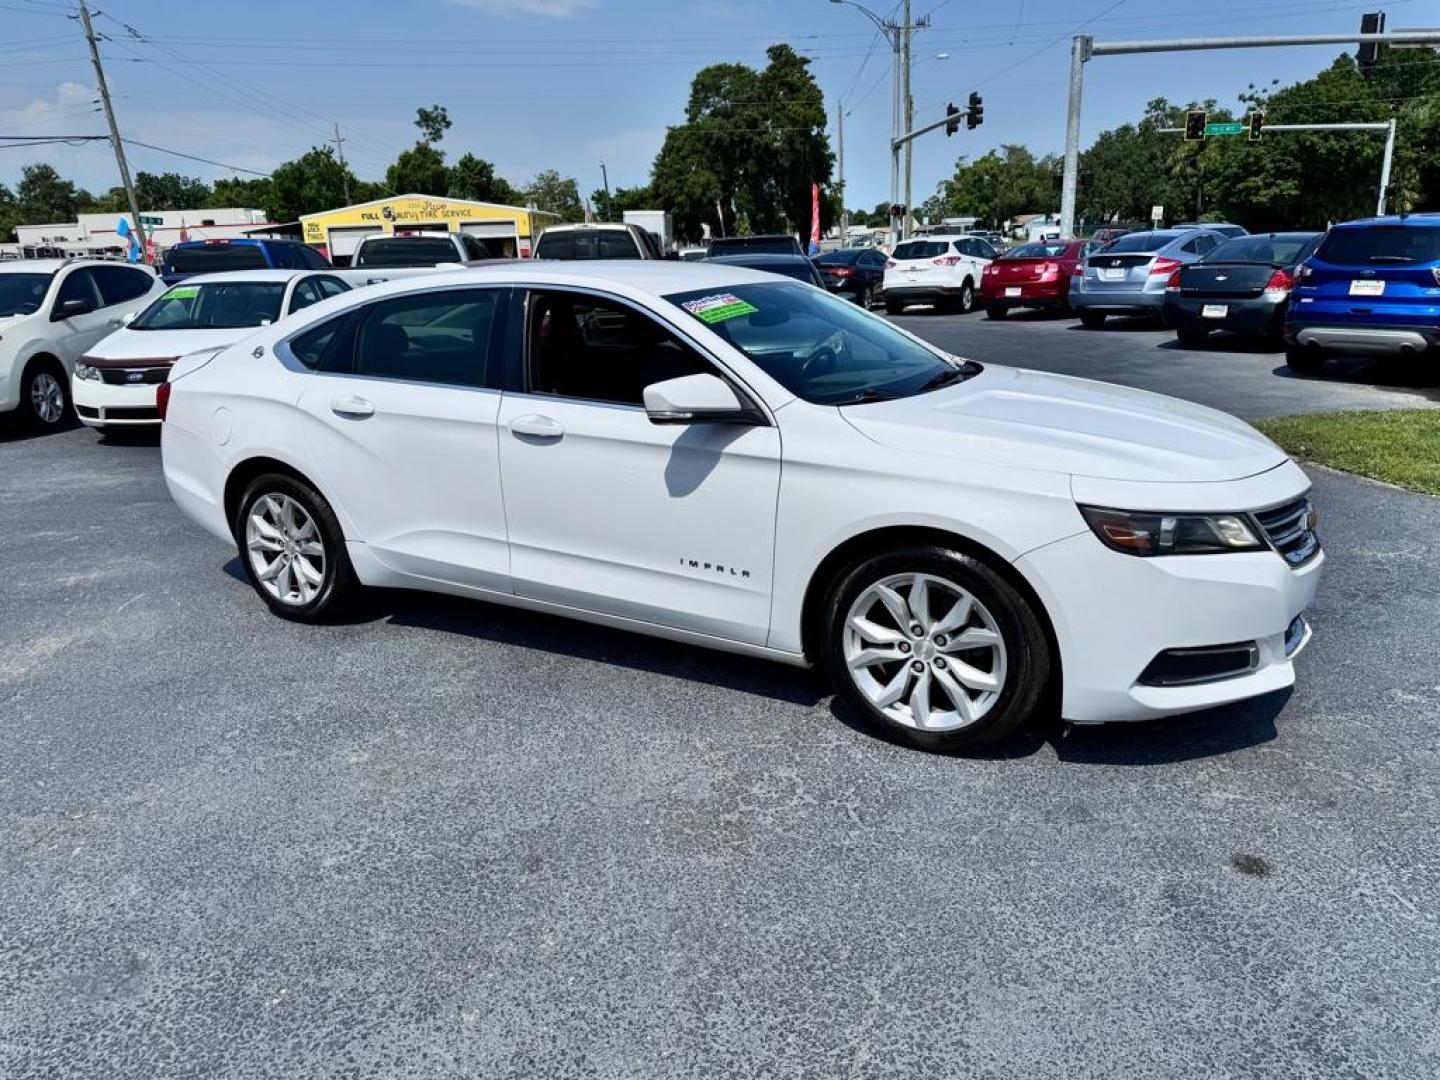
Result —
<instances>
[{"instance_id":1,"label":"windshield of the foreground white Impala with green sticker","mask_svg":"<svg viewBox=\"0 0 1440 1080\"><path fill-rule=\"evenodd\" d=\"M734 285L665 300L816 405L909 397L981 370L943 359L848 300L804 285Z\"/></svg>"}]
</instances>

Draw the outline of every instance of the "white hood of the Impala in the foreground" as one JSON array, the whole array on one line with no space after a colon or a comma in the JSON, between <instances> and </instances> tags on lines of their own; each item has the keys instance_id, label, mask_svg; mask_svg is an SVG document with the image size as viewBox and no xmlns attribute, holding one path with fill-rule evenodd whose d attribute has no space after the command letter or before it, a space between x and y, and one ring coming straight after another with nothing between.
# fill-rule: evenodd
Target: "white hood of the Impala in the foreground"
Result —
<instances>
[{"instance_id":1,"label":"white hood of the Impala in the foreground","mask_svg":"<svg viewBox=\"0 0 1440 1080\"><path fill-rule=\"evenodd\" d=\"M840 412L894 449L1076 477L1238 480L1287 459L1248 423L1215 409L1015 367L986 367L942 390Z\"/></svg>"}]
</instances>

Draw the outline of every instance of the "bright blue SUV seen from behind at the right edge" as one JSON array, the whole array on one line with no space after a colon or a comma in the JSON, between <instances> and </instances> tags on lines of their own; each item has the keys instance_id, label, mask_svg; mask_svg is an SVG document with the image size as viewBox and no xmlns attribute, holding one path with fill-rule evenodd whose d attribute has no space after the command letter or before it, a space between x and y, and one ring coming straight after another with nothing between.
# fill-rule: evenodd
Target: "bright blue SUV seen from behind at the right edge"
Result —
<instances>
[{"instance_id":1,"label":"bright blue SUV seen from behind at the right edge","mask_svg":"<svg viewBox=\"0 0 1440 1080\"><path fill-rule=\"evenodd\" d=\"M1296 274L1284 346L1306 374L1326 356L1440 354L1440 215L1332 228Z\"/></svg>"}]
</instances>

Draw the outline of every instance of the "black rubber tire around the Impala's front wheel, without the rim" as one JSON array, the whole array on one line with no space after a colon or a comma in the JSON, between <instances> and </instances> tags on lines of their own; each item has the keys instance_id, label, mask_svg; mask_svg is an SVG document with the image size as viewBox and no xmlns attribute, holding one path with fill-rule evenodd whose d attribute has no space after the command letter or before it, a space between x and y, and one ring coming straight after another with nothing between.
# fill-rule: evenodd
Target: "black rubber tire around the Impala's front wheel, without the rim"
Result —
<instances>
[{"instance_id":1,"label":"black rubber tire around the Impala's front wheel, without the rim","mask_svg":"<svg viewBox=\"0 0 1440 1080\"><path fill-rule=\"evenodd\" d=\"M891 719L860 691L845 662L845 624L851 605L871 585L893 575L909 573L939 577L966 590L984 605L999 631L1005 648L1005 680L988 711L969 726L950 732L922 732ZM932 615L943 618L937 612ZM917 651L917 647L907 649L912 661L900 662L920 662L914 657ZM1053 661L1041 616L1032 602L984 560L948 547L891 552L850 567L835 582L825 602L819 654L835 694L850 710L893 739L923 750L955 753L994 746L1034 721L1050 700Z\"/></svg>"}]
</instances>

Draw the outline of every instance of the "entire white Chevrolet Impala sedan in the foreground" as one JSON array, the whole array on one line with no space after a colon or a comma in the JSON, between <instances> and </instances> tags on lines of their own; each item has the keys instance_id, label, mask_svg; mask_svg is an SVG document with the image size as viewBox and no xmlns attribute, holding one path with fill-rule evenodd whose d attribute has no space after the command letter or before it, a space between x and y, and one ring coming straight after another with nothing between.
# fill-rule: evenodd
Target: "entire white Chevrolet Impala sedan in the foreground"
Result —
<instances>
[{"instance_id":1,"label":"entire white Chevrolet Impala sedan in the foreground","mask_svg":"<svg viewBox=\"0 0 1440 1080\"><path fill-rule=\"evenodd\" d=\"M174 500L276 615L400 586L815 664L935 749L1290 685L1325 560L1305 474L1231 416L733 266L377 285L158 403Z\"/></svg>"}]
</instances>

